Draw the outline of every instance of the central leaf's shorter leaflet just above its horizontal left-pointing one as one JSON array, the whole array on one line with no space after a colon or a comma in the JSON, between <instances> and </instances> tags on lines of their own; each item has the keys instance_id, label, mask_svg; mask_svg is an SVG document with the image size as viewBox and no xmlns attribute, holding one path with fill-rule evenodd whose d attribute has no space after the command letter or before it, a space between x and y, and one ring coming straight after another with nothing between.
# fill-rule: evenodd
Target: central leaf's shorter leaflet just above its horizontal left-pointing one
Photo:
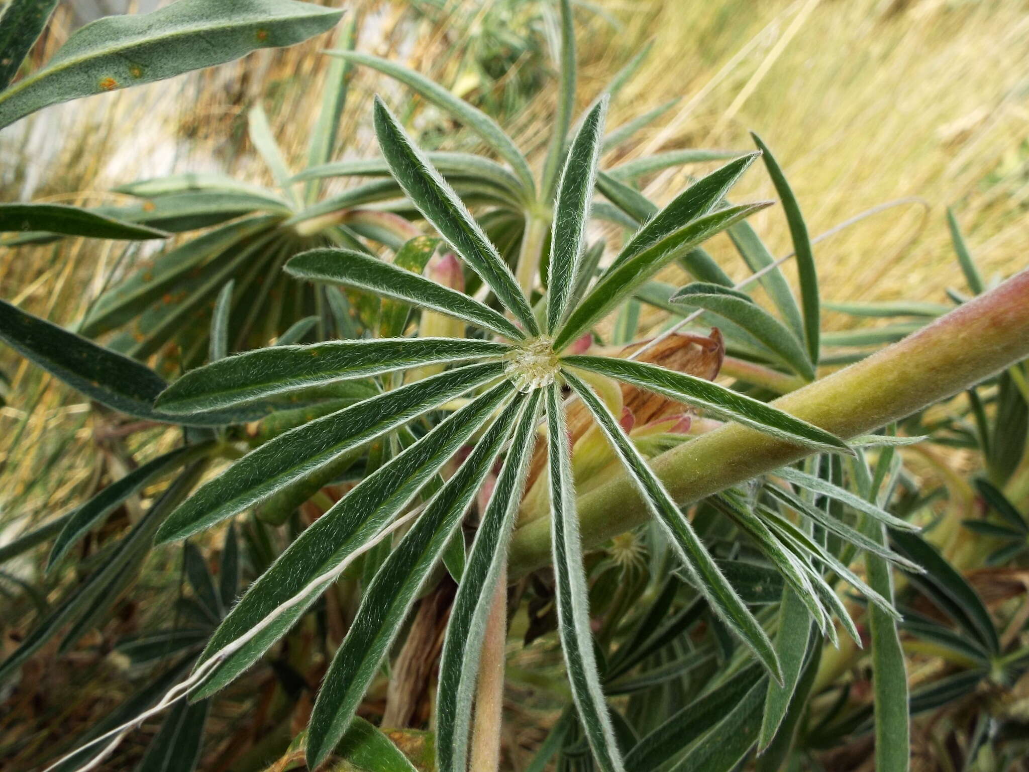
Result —
<instances>
[{"instance_id":1,"label":"central leaf's shorter leaflet just above its horizontal left-pointing one","mask_svg":"<svg viewBox=\"0 0 1029 772\"><path fill-rule=\"evenodd\" d=\"M286 272L301 279L336 282L430 308L516 341L525 337L502 314L464 292L349 249L301 252L286 264Z\"/></svg>"}]
</instances>

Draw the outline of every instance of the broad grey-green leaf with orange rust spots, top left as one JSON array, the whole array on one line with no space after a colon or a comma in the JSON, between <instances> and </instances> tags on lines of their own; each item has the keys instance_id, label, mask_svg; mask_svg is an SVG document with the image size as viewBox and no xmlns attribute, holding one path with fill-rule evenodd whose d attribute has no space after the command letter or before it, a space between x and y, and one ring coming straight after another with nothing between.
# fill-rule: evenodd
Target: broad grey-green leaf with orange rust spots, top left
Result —
<instances>
[{"instance_id":1,"label":"broad grey-green leaf with orange rust spots, top left","mask_svg":"<svg viewBox=\"0 0 1029 772\"><path fill-rule=\"evenodd\" d=\"M152 13L106 16L77 30L43 67L0 93L0 127L58 102L293 45L330 29L342 14L294 0L179 0Z\"/></svg>"}]
</instances>

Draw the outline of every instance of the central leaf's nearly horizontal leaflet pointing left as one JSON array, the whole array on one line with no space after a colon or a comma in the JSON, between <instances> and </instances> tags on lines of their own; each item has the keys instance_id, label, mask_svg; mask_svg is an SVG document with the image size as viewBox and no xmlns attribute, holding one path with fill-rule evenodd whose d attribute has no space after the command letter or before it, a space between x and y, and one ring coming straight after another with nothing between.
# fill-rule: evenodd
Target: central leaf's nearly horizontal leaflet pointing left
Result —
<instances>
[{"instance_id":1,"label":"central leaf's nearly horizontal leaflet pointing left","mask_svg":"<svg viewBox=\"0 0 1029 772\"><path fill-rule=\"evenodd\" d=\"M188 415L428 363L501 357L510 346L449 338L380 338L257 349L186 373L157 397Z\"/></svg>"}]
</instances>

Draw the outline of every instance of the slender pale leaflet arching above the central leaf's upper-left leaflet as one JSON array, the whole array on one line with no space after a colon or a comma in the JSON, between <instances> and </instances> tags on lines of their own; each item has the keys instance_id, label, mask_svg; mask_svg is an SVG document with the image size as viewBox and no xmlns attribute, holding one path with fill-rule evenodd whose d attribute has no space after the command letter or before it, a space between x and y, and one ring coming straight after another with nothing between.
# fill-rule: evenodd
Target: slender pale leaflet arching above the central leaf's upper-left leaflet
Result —
<instances>
[{"instance_id":1,"label":"slender pale leaflet arching above the central leaf's upper-left leaflet","mask_svg":"<svg viewBox=\"0 0 1029 772\"><path fill-rule=\"evenodd\" d=\"M497 126L497 122L485 112L476 107L472 107L464 100L458 99L448 90L424 75L406 67L401 67L389 60L352 50L331 50L327 52L329 56L340 57L348 62L354 62L379 70L379 72L399 80L432 104L451 113L451 115L461 122L467 124L475 134L486 141L486 144L496 150L504 161L511 165L511 169L514 170L514 174L518 175L525 189L534 192L535 183L532 180L532 172L529 171L529 165L526 163L525 156L511 141L510 137L504 134L503 130Z\"/></svg>"}]
</instances>

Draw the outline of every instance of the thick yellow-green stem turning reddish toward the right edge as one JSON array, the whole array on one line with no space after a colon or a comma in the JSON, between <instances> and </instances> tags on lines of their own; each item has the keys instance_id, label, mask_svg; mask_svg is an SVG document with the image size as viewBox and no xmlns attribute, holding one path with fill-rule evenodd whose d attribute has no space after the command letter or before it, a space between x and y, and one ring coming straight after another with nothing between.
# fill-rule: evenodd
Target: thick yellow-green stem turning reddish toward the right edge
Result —
<instances>
[{"instance_id":1,"label":"thick yellow-green stem turning reddish toward the right edge","mask_svg":"<svg viewBox=\"0 0 1029 772\"><path fill-rule=\"evenodd\" d=\"M773 402L847 438L873 431L951 396L1029 357L1029 271L1012 277L918 332ZM810 451L738 424L662 454L653 468L679 503L697 501L803 458ZM606 539L644 522L647 508L619 473L578 499L582 542ZM547 518L513 536L512 580L549 560Z\"/></svg>"}]
</instances>

